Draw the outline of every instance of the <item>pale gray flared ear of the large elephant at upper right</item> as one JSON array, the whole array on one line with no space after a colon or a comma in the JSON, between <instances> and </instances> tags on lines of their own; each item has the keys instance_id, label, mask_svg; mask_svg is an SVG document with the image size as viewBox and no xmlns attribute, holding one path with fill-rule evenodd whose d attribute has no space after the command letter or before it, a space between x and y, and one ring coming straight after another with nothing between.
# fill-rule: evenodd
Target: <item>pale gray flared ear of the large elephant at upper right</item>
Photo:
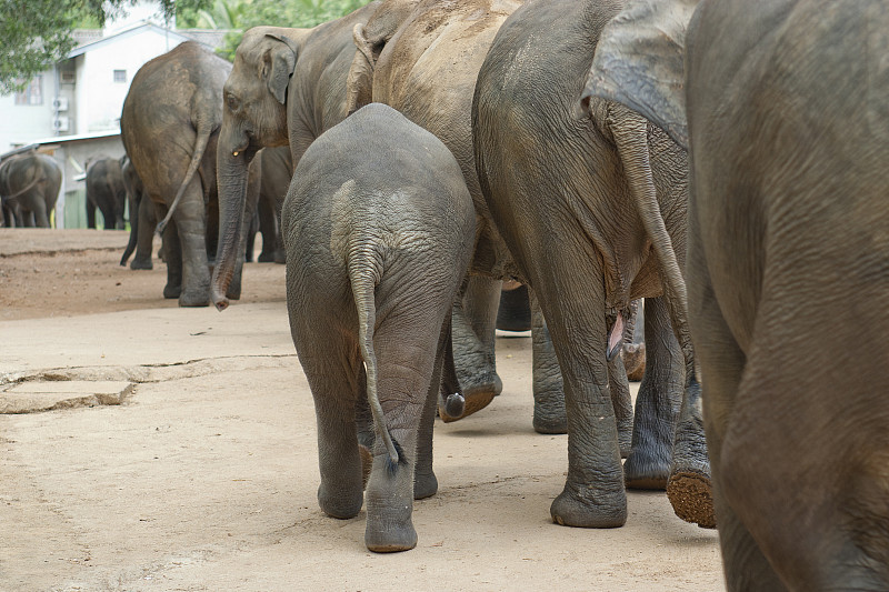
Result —
<instances>
[{"instance_id":1,"label":"pale gray flared ear of the large elephant at upper right","mask_svg":"<svg viewBox=\"0 0 889 592\"><path fill-rule=\"evenodd\" d=\"M581 100L623 103L688 149L685 46L700 0L635 0L599 38Z\"/></svg>"}]
</instances>

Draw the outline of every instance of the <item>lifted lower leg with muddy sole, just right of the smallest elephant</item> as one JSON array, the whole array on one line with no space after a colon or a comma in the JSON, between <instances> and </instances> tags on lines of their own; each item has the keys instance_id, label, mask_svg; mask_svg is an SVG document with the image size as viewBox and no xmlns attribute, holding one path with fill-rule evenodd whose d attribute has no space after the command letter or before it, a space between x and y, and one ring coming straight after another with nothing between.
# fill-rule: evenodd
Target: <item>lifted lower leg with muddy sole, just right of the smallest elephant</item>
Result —
<instances>
[{"instance_id":1,"label":"lifted lower leg with muddy sole, just right of the smallest elephant","mask_svg":"<svg viewBox=\"0 0 889 592\"><path fill-rule=\"evenodd\" d=\"M500 284L497 280L472 275L462 298L458 298L453 307L453 361L466 405L459 418L448 415L444 409L439 408L439 417L446 422L485 409L503 390L495 358Z\"/></svg>"}]
</instances>

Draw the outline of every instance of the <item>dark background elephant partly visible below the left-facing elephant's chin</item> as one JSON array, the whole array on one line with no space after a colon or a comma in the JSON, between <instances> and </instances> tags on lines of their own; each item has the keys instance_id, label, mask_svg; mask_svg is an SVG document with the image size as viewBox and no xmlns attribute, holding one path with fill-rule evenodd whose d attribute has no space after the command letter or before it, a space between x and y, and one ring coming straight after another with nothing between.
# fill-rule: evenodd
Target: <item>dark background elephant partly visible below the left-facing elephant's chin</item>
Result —
<instances>
[{"instance_id":1,"label":"dark background elephant partly visible below the left-facing elephant's chin","mask_svg":"<svg viewBox=\"0 0 889 592\"><path fill-rule=\"evenodd\" d=\"M281 241L281 205L293 177L293 160L289 147L264 148L257 152L250 163L250 175L259 177L251 181L259 187L257 204L257 221L259 232L262 233L262 251L257 260L260 263L284 262L284 248ZM249 184L249 183L248 183ZM252 231L251 231L252 232ZM248 237L247 253L252 253L252 243L256 232Z\"/></svg>"}]
</instances>

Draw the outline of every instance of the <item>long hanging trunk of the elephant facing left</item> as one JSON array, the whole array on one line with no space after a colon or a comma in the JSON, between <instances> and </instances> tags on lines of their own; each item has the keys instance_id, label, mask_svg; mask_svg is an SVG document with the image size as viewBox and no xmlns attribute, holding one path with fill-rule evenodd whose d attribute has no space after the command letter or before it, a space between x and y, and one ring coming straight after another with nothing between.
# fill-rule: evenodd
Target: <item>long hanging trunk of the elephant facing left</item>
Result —
<instances>
[{"instance_id":1,"label":"long hanging trunk of the elephant facing left","mask_svg":"<svg viewBox=\"0 0 889 592\"><path fill-rule=\"evenodd\" d=\"M234 277L237 258L243 254L241 228L247 200L247 177L253 151L231 150L220 138L217 153L219 175L219 243L210 298L219 310L229 305L228 290Z\"/></svg>"}]
</instances>

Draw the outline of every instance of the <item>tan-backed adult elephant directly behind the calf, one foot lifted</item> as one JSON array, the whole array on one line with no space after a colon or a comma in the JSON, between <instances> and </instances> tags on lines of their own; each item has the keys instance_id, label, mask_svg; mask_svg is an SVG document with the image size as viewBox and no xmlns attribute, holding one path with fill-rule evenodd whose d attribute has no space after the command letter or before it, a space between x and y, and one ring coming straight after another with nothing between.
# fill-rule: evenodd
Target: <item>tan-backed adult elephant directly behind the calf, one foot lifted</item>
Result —
<instances>
[{"instance_id":1,"label":"tan-backed adult elephant directly behind the calf, one foot lifted","mask_svg":"<svg viewBox=\"0 0 889 592\"><path fill-rule=\"evenodd\" d=\"M453 314L453 350L465 415L486 407L502 389L495 363L495 325L501 281L512 278L507 249L491 224L472 152L472 90L495 34L519 0L386 0L363 27L349 73L349 109L382 102L434 133L457 157L477 213L472 269ZM533 427L565 433L565 402L558 361L542 314L532 315ZM617 364L620 362L618 361ZM617 365L616 364L616 365ZM615 392L623 411L629 448L631 409L626 377L616 370ZM444 421L451 418L439 409ZM463 417L465 417L463 415Z\"/></svg>"}]
</instances>

